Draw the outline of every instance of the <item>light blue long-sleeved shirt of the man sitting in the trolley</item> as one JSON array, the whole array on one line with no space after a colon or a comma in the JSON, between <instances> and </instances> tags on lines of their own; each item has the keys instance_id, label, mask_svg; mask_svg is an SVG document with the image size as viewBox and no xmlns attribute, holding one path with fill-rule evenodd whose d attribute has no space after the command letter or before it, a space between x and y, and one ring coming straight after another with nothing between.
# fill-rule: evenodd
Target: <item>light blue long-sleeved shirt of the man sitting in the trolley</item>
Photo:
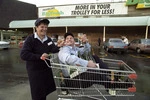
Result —
<instances>
[{"instance_id":1,"label":"light blue long-sleeved shirt of the man sitting in the trolley","mask_svg":"<svg viewBox=\"0 0 150 100\"><path fill-rule=\"evenodd\" d=\"M64 46L59 51L58 58L60 62L63 64L87 67L88 61L79 58L78 53L83 54L84 52L89 52L90 50L91 50L91 45L89 43L86 43L83 48L79 48L76 46L75 47ZM69 76L69 73L65 69L63 69L62 72L63 72L63 75L67 77Z\"/></svg>"}]
</instances>

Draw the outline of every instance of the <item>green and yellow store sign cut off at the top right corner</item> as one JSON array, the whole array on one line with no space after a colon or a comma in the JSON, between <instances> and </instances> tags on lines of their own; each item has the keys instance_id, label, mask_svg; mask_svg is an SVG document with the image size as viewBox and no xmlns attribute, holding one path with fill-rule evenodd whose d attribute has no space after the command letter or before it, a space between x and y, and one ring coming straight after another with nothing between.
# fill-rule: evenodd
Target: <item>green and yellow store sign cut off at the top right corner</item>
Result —
<instances>
[{"instance_id":1,"label":"green and yellow store sign cut off at the top right corner","mask_svg":"<svg viewBox=\"0 0 150 100\"><path fill-rule=\"evenodd\" d=\"M137 5L136 9L150 8L150 0L127 0L126 5Z\"/></svg>"}]
</instances>

